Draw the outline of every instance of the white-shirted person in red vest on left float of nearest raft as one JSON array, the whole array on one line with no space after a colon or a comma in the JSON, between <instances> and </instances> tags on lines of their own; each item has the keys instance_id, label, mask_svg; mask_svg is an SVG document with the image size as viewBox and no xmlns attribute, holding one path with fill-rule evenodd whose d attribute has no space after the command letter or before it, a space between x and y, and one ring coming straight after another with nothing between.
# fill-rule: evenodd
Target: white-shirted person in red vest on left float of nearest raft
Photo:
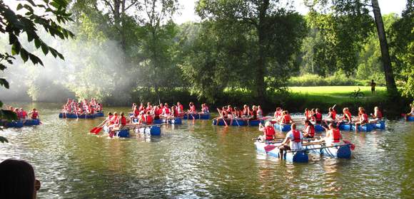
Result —
<instances>
[{"instance_id":1,"label":"white-shirted person in red vest on left float of nearest raft","mask_svg":"<svg viewBox=\"0 0 414 199\"><path fill-rule=\"evenodd\" d=\"M286 134L285 140L283 140L281 146L279 146L280 159L283 157L283 151L302 149L303 134L301 131L296 130L296 124L292 124L291 128L291 131Z\"/></svg>"}]
</instances>

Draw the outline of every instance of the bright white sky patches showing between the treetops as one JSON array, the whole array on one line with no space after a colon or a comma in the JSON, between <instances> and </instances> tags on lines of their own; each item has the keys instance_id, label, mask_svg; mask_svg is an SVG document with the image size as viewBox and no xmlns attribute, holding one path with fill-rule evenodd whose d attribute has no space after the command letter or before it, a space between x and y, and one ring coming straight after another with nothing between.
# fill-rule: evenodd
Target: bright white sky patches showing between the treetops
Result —
<instances>
[{"instance_id":1,"label":"bright white sky patches showing between the treetops","mask_svg":"<svg viewBox=\"0 0 414 199\"><path fill-rule=\"evenodd\" d=\"M178 24L185 23L187 21L200 21L200 18L194 13L194 4L196 0L178 0L181 9L181 14L176 14L173 18ZM381 14L396 13L401 14L401 11L405 8L407 0L378 0L380 4ZM303 5L303 1L296 0L295 7L301 14L306 14L308 9Z\"/></svg>"}]
</instances>

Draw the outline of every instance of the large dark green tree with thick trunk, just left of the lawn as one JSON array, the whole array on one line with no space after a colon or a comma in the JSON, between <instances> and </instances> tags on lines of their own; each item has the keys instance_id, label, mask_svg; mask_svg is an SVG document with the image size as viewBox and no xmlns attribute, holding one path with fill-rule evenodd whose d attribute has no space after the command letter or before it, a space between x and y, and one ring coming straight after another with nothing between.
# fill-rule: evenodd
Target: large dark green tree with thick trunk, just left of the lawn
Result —
<instances>
[{"instance_id":1,"label":"large dark green tree with thick trunk, just left of the lawn","mask_svg":"<svg viewBox=\"0 0 414 199\"><path fill-rule=\"evenodd\" d=\"M248 58L244 64L250 71L244 85L250 85L259 103L266 97L266 88L283 87L293 69L293 54L300 48L306 31L301 16L279 1L271 0L200 0L196 10L201 18L214 21L218 28L238 30L232 33L233 37L249 44L246 46L249 49L238 50L246 55L233 56Z\"/></svg>"}]
</instances>

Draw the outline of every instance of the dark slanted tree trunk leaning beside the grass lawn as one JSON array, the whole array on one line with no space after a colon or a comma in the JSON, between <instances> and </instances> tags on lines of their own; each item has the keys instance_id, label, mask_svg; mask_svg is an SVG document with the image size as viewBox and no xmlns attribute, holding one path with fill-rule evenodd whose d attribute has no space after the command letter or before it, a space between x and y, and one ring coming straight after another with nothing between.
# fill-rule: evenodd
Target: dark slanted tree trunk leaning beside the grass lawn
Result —
<instances>
[{"instance_id":1,"label":"dark slanted tree trunk leaning beside the grass lawn","mask_svg":"<svg viewBox=\"0 0 414 199\"><path fill-rule=\"evenodd\" d=\"M371 0L373 6L375 25L377 26L378 39L380 41L381 58L383 60L383 68L385 73L385 82L387 83L388 93L395 95L397 93L397 86L395 85L393 68L391 67L390 53L388 51L387 38L385 36L385 28L383 23L383 16L381 16L380 5L378 0Z\"/></svg>"}]
</instances>

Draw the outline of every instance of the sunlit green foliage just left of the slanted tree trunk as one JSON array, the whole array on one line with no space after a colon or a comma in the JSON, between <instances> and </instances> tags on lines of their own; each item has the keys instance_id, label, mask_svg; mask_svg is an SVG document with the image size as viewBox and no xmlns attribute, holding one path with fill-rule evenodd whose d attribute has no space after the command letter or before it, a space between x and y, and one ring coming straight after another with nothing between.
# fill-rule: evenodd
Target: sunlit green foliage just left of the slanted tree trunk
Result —
<instances>
[{"instance_id":1,"label":"sunlit green foliage just left of the slanted tree trunk","mask_svg":"<svg viewBox=\"0 0 414 199\"><path fill-rule=\"evenodd\" d=\"M306 50L313 51L311 65L318 68L317 74L330 75L332 69L338 68L353 74L358 67L358 53L374 30L373 18L365 6L368 1L306 1L306 4L310 7L306 20L310 28L317 30L311 32L315 41Z\"/></svg>"}]
</instances>

